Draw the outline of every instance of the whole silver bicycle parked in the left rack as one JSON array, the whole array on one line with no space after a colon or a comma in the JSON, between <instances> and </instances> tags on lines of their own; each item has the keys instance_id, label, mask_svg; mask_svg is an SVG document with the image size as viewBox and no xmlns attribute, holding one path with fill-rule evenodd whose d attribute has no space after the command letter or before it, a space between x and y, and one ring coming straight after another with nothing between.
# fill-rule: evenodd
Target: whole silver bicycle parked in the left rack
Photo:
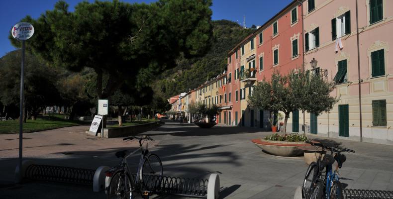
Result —
<instances>
[{"instance_id":1,"label":"whole silver bicycle parked in the left rack","mask_svg":"<svg viewBox=\"0 0 393 199\"><path fill-rule=\"evenodd\" d=\"M110 177L109 185L106 186L105 182L105 193L108 199L135 199L138 194L142 198L148 199L152 194L147 190L146 184L143 182L143 178L147 175L162 176L162 163L161 159L148 150L148 140L155 141L149 136L144 135L143 137L130 136L123 138L123 140L139 140L139 148L129 153L129 150L123 150L116 152L116 157L121 158L120 164L117 167L113 167L106 172L106 177ZM145 144L145 149L143 145ZM137 151L141 151L138 169L136 172L135 179L131 173L130 167L127 162L127 158Z\"/></svg>"}]
</instances>

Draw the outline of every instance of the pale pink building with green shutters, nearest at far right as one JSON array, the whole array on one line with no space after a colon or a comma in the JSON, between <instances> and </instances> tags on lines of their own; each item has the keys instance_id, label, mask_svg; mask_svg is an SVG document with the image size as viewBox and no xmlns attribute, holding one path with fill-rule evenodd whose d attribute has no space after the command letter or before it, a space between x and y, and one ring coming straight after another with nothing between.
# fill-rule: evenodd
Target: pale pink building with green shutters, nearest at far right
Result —
<instances>
[{"instance_id":1,"label":"pale pink building with green shutters, nearest at far right","mask_svg":"<svg viewBox=\"0 0 393 199\"><path fill-rule=\"evenodd\" d=\"M314 71L340 99L330 112L305 114L309 132L393 144L393 1L305 0L303 13L305 68L317 60Z\"/></svg>"}]
</instances>

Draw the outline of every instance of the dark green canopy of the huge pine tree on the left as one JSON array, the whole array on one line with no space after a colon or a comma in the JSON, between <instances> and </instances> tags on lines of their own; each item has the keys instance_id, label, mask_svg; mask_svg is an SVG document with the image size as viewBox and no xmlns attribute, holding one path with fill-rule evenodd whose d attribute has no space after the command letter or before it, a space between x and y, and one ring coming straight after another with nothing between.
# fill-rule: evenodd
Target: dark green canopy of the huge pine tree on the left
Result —
<instances>
[{"instance_id":1,"label":"dark green canopy of the huge pine tree on the left","mask_svg":"<svg viewBox=\"0 0 393 199\"><path fill-rule=\"evenodd\" d=\"M83 1L71 12L60 0L39 18L22 21L36 30L29 51L72 71L92 68L97 96L108 98L124 83L134 91L145 87L181 54L203 55L212 36L210 5L211 0Z\"/></svg>"}]
</instances>

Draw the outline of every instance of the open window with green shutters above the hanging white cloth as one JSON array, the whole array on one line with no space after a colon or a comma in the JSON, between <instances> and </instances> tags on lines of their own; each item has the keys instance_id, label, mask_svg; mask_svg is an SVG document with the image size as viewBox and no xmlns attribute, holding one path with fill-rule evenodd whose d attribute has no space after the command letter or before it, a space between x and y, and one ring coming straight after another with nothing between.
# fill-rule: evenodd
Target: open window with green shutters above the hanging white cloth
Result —
<instances>
[{"instance_id":1,"label":"open window with green shutters above the hanging white cloth","mask_svg":"<svg viewBox=\"0 0 393 199\"><path fill-rule=\"evenodd\" d=\"M332 19L332 40L351 33L351 11Z\"/></svg>"}]
</instances>

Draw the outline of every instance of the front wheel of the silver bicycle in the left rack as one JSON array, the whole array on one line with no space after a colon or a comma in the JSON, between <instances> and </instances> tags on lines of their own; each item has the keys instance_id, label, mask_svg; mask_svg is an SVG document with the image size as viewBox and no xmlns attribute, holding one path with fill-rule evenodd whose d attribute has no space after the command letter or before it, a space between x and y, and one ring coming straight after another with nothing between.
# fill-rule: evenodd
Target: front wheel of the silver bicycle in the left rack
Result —
<instances>
[{"instance_id":1,"label":"front wheel of the silver bicycle in the left rack","mask_svg":"<svg viewBox=\"0 0 393 199\"><path fill-rule=\"evenodd\" d=\"M162 162L160 157L156 154L150 154L147 159L145 159L145 162L143 163L142 166L142 171L141 171L141 177L140 179L142 180L143 185L145 188L147 187L147 184L149 180L153 180L154 177L152 176L162 176L163 171L162 171Z\"/></svg>"}]
</instances>

